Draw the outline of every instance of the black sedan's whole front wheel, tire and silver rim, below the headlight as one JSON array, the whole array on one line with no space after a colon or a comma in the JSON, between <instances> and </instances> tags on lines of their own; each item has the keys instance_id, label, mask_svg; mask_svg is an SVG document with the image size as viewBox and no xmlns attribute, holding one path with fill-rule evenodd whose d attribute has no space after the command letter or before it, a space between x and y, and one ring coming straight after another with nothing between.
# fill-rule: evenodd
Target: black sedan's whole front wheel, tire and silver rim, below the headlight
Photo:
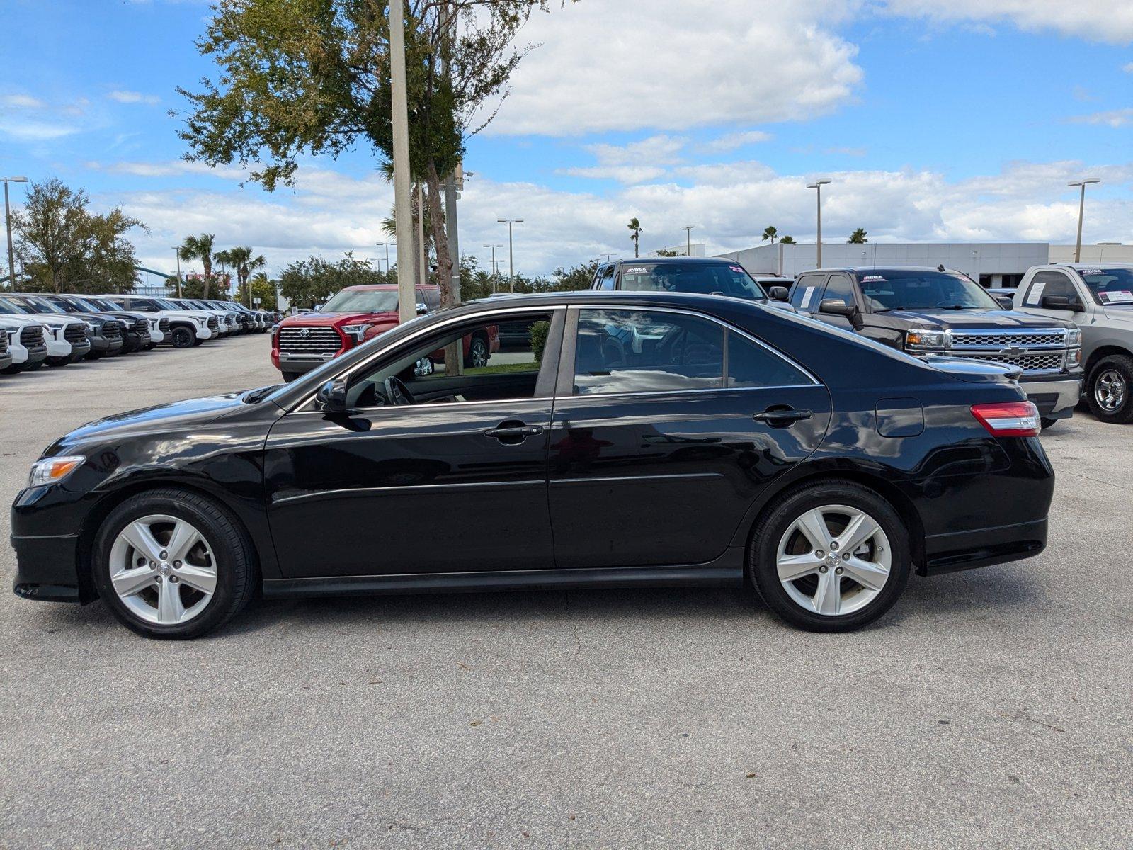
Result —
<instances>
[{"instance_id":1,"label":"black sedan's whole front wheel, tire and silver rim, below the headlight","mask_svg":"<svg viewBox=\"0 0 1133 850\"><path fill-rule=\"evenodd\" d=\"M118 505L94 542L93 578L111 613L151 638L187 639L227 622L256 585L252 543L220 505L162 488Z\"/></svg>"}]
</instances>

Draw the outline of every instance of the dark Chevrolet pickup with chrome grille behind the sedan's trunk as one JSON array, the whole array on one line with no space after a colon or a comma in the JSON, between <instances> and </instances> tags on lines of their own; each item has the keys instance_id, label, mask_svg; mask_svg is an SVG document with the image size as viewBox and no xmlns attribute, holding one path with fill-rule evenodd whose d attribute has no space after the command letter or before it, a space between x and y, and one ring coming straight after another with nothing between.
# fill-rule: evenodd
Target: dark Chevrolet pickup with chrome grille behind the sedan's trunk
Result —
<instances>
[{"instance_id":1,"label":"dark Chevrolet pickup with chrome grille behind the sedan's trunk","mask_svg":"<svg viewBox=\"0 0 1133 850\"><path fill-rule=\"evenodd\" d=\"M782 290L772 297L782 298ZM1071 322L1012 309L971 278L939 266L816 269L789 300L800 313L918 357L965 357L1014 366L1042 426L1074 413L1082 335Z\"/></svg>"}]
</instances>

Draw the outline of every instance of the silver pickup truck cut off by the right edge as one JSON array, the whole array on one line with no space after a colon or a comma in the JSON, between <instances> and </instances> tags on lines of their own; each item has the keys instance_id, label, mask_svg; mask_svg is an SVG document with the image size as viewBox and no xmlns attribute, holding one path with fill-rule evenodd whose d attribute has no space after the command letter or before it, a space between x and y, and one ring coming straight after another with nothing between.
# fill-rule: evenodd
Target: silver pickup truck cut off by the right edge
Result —
<instances>
[{"instance_id":1,"label":"silver pickup truck cut off by the right edge","mask_svg":"<svg viewBox=\"0 0 1133 850\"><path fill-rule=\"evenodd\" d=\"M1014 300L1017 311L1081 329L1090 410L1102 422L1133 422L1133 265L1036 265Z\"/></svg>"}]
</instances>

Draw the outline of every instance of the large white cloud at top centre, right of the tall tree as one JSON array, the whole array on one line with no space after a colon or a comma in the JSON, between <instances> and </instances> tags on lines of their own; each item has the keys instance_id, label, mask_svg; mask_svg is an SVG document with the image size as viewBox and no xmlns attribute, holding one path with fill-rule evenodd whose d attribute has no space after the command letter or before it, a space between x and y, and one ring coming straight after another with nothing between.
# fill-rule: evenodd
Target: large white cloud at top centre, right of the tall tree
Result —
<instances>
[{"instance_id":1,"label":"large white cloud at top centre, right of the tall tree","mask_svg":"<svg viewBox=\"0 0 1133 850\"><path fill-rule=\"evenodd\" d=\"M830 27L858 0L568 3L535 15L537 46L485 133L580 135L810 118L845 103L862 78L857 48Z\"/></svg>"}]
</instances>

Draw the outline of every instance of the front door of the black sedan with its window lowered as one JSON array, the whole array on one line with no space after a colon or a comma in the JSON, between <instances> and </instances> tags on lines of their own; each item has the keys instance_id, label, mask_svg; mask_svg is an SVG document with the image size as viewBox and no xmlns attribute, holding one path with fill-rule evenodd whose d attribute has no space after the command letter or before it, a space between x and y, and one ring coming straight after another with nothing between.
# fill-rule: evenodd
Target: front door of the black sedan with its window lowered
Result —
<instances>
[{"instance_id":1,"label":"front door of the black sedan with its window lowered","mask_svg":"<svg viewBox=\"0 0 1133 850\"><path fill-rule=\"evenodd\" d=\"M495 309L436 323L443 330L348 367L346 414L310 401L281 417L264 469L284 575L551 567L546 443L564 313ZM451 376L428 359L502 321L529 322L533 339L546 340L542 355L534 346L494 354ZM389 377L409 403L390 403Z\"/></svg>"}]
</instances>

